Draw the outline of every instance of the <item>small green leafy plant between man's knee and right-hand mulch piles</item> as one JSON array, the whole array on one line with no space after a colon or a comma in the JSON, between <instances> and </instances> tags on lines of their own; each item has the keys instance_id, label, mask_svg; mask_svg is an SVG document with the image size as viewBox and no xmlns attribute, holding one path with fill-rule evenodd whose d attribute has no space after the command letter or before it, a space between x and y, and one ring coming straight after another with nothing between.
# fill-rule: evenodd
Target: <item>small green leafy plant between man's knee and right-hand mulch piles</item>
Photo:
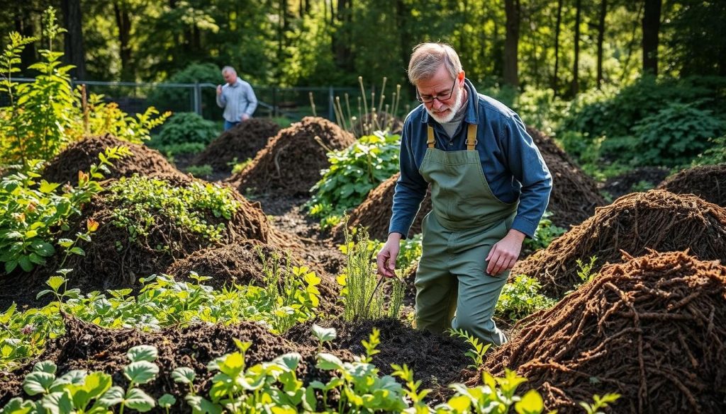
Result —
<instances>
[{"instance_id":1,"label":"small green leafy plant between man's knee and right-hand mulch piles","mask_svg":"<svg viewBox=\"0 0 726 414\"><path fill-rule=\"evenodd\" d=\"M494 314L515 321L555 305L557 301L539 293L539 289L542 289L542 284L537 279L526 275L515 276L513 282L502 288Z\"/></svg>"}]
</instances>

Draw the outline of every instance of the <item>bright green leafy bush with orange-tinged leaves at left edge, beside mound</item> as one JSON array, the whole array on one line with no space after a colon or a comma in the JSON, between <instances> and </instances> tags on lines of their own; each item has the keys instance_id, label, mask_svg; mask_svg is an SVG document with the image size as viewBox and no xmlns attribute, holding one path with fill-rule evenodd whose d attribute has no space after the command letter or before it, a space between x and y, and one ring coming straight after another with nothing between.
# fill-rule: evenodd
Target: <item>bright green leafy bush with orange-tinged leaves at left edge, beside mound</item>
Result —
<instances>
[{"instance_id":1,"label":"bright green leafy bush with orange-tinged leaves at left edge, beside mound","mask_svg":"<svg viewBox=\"0 0 726 414\"><path fill-rule=\"evenodd\" d=\"M70 218L81 214L81 206L102 190L97 180L103 178L102 172L108 172L111 161L129 154L126 147L105 149L89 173L78 172L76 186L38 182L42 163L37 161L31 161L25 173L3 177L0 181L0 262L4 263L5 273L18 266L29 272L37 265L45 265L57 247L65 250L65 257L83 255L78 241L89 241L98 223L89 220L86 232L77 233L75 240L58 236L68 230Z\"/></svg>"}]
</instances>

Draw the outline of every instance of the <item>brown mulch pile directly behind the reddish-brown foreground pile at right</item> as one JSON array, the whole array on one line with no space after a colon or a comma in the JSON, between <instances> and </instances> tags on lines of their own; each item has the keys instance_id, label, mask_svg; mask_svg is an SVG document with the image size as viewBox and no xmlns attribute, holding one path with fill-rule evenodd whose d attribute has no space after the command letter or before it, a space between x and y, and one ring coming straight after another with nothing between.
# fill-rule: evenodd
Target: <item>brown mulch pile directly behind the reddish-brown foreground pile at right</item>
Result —
<instances>
[{"instance_id":1,"label":"brown mulch pile directly behind the reddish-brown foreground pile at right","mask_svg":"<svg viewBox=\"0 0 726 414\"><path fill-rule=\"evenodd\" d=\"M701 260L725 260L726 209L693 195L663 190L628 194L598 208L592 218L518 262L511 275L537 278L542 291L561 297L582 282L576 260L588 263L597 256L592 270L597 273L606 262L621 262L621 251L639 256L648 249L690 249Z\"/></svg>"}]
</instances>

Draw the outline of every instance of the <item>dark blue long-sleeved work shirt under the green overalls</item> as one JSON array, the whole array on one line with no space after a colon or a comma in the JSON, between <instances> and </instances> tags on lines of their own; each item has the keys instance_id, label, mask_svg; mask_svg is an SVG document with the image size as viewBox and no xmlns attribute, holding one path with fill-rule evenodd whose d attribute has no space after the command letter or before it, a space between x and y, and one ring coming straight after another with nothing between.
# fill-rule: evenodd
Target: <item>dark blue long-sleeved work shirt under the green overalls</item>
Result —
<instances>
[{"instance_id":1,"label":"dark blue long-sleeved work shirt under the green overalls","mask_svg":"<svg viewBox=\"0 0 726 414\"><path fill-rule=\"evenodd\" d=\"M396 182L388 232L407 236L426 194L428 183L419 169L428 148L428 125L433 127L437 149L465 151L467 128L463 127L470 123L477 124L476 150L489 188L502 202L512 203L519 199L512 228L533 237L550 201L550 170L519 115L496 99L477 94L468 79L465 87L468 90L466 115L453 138L449 138L444 128L429 117L423 104L406 117L401 133L401 177Z\"/></svg>"}]
</instances>

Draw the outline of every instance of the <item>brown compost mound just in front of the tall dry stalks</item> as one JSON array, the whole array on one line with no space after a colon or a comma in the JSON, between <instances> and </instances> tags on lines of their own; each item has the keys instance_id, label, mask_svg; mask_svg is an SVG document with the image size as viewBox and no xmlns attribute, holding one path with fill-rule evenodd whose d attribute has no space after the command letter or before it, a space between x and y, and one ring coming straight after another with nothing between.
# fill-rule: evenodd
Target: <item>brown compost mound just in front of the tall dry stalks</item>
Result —
<instances>
[{"instance_id":1,"label":"brown compost mound just in front of the tall dry stalks","mask_svg":"<svg viewBox=\"0 0 726 414\"><path fill-rule=\"evenodd\" d=\"M327 152L345 149L354 142L351 133L329 120L304 117L277 133L250 165L229 178L229 183L242 194L249 189L255 194L306 196L319 181L320 170L330 166Z\"/></svg>"}]
</instances>

